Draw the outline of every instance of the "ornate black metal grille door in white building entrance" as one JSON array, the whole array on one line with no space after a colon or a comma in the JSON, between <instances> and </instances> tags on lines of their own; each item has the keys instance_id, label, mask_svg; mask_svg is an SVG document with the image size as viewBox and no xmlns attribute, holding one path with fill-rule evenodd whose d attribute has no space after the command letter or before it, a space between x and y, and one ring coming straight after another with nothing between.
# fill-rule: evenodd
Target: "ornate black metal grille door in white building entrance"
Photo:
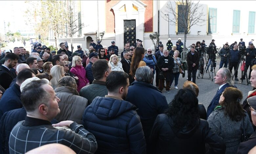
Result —
<instances>
[{"instance_id":1,"label":"ornate black metal grille door in white building entrance","mask_svg":"<svg viewBox=\"0 0 256 154\"><path fill-rule=\"evenodd\" d=\"M136 21L124 20L124 43L130 41L130 46L135 46L136 43Z\"/></svg>"}]
</instances>

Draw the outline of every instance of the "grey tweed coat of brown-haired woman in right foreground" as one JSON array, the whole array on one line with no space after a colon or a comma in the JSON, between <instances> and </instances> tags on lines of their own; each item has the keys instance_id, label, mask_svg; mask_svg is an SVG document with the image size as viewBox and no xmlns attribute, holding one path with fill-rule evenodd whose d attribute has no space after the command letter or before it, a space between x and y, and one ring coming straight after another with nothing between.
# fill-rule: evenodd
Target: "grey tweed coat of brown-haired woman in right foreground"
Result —
<instances>
[{"instance_id":1,"label":"grey tweed coat of brown-haired woman in right foreground","mask_svg":"<svg viewBox=\"0 0 256 154\"><path fill-rule=\"evenodd\" d=\"M212 130L223 138L226 144L226 154L237 153L238 146L240 144L240 139L243 134L243 120L239 122L232 121L224 113L225 109L219 108L214 110L207 121ZM249 119L247 112L245 112L245 132L248 135L253 133L253 128Z\"/></svg>"}]
</instances>

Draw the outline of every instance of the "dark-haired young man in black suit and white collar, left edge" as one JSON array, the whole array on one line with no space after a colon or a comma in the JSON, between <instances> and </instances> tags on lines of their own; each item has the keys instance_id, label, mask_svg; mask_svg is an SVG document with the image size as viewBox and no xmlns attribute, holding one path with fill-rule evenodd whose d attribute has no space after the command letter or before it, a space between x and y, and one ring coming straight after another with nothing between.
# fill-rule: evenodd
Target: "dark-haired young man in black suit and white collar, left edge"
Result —
<instances>
[{"instance_id":1,"label":"dark-haired young man in black suit and white collar, left edge","mask_svg":"<svg viewBox=\"0 0 256 154\"><path fill-rule=\"evenodd\" d=\"M0 67L0 85L5 89L10 87L11 81L17 76L11 68L17 64L18 59L19 56L9 53L5 56L5 63Z\"/></svg>"}]
</instances>

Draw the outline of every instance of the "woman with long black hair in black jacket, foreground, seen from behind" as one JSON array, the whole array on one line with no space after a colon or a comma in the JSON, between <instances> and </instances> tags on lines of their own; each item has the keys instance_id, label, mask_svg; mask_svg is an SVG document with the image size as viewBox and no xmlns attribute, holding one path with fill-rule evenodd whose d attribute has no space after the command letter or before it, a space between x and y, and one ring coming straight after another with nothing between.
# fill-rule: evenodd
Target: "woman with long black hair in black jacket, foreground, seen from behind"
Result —
<instances>
[{"instance_id":1,"label":"woman with long black hair in black jacket, foreground, seen from behind","mask_svg":"<svg viewBox=\"0 0 256 154\"><path fill-rule=\"evenodd\" d=\"M149 137L148 153L224 153L223 140L200 119L198 99L190 89L180 89L164 114L159 114Z\"/></svg>"}]
</instances>

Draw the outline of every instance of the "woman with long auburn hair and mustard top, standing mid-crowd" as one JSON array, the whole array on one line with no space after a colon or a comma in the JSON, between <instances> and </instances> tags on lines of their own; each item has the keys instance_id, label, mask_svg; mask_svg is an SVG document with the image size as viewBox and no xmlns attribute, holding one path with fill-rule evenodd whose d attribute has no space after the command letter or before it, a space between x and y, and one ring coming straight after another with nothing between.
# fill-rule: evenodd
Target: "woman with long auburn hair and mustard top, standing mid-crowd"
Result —
<instances>
[{"instance_id":1,"label":"woman with long auburn hair and mustard top, standing mid-crowd","mask_svg":"<svg viewBox=\"0 0 256 154\"><path fill-rule=\"evenodd\" d=\"M135 76L135 72L137 68L141 66L146 66L146 63L143 62L142 60L144 56L145 56L145 49L143 47L136 47L132 57L131 68L129 73L132 77Z\"/></svg>"}]
</instances>

